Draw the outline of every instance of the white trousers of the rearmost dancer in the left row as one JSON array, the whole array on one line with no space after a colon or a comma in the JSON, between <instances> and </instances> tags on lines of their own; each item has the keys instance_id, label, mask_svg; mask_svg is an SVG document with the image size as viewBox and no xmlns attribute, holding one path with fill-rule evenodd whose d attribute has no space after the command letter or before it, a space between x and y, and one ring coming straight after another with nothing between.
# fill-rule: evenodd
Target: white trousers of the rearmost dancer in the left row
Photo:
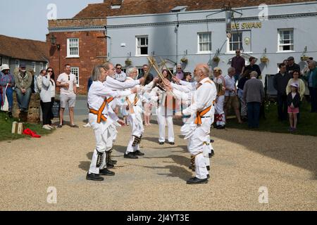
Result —
<instances>
[{"instance_id":1,"label":"white trousers of the rearmost dancer in the left row","mask_svg":"<svg viewBox=\"0 0 317 225\"><path fill-rule=\"evenodd\" d=\"M139 150L139 144L136 146L132 146L133 142L135 141L135 136L140 137L144 133L142 115L139 113L133 113L132 115L128 116L128 120L131 126L131 137L128 143L127 150L125 154L133 153Z\"/></svg>"}]
</instances>

